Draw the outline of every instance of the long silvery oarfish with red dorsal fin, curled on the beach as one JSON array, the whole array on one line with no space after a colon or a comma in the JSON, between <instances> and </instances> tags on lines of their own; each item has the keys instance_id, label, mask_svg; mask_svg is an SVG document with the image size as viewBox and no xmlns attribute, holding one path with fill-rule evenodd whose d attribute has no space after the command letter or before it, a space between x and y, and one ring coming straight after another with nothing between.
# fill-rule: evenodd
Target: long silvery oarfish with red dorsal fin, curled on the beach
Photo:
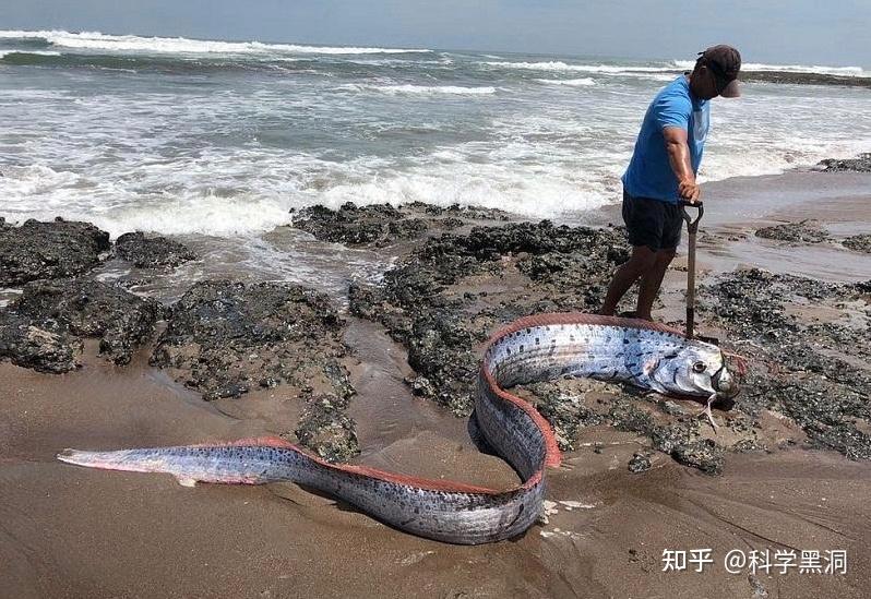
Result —
<instances>
[{"instance_id":1,"label":"long silvery oarfish with red dorsal fin, curled on the beach","mask_svg":"<svg viewBox=\"0 0 871 599\"><path fill-rule=\"evenodd\" d=\"M716 346L646 321L554 313L515 321L484 351L475 414L484 440L517 472L508 490L330 464L279 438L109 452L64 450L92 468L168 472L182 484L290 481L330 493L399 530L476 544L525 531L541 514L546 467L560 464L548 422L505 391L562 376L621 381L664 394L731 397L737 381Z\"/></svg>"}]
</instances>

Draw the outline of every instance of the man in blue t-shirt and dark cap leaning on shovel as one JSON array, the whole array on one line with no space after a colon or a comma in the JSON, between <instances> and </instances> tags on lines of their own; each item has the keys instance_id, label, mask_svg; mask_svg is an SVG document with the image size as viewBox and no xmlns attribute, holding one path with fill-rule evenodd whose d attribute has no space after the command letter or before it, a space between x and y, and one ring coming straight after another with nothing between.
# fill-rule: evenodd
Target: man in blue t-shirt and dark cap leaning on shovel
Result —
<instances>
[{"instance_id":1,"label":"man in blue t-shirt and dark cap leaning on shovel","mask_svg":"<svg viewBox=\"0 0 871 599\"><path fill-rule=\"evenodd\" d=\"M623 220L632 255L613 275L601 313L613 315L620 298L641 278L635 316L651 308L680 242L680 200L699 202L695 180L707 136L708 100L738 97L741 55L731 46L699 52L692 73L680 75L651 103L623 175Z\"/></svg>"}]
</instances>

